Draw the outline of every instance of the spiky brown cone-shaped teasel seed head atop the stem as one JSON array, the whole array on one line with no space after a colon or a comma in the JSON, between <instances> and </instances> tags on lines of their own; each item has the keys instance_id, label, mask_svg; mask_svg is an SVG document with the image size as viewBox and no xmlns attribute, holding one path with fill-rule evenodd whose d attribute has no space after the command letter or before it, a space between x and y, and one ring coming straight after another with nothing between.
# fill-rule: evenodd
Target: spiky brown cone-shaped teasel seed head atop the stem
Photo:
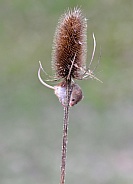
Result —
<instances>
[{"instance_id":1,"label":"spiky brown cone-shaped teasel seed head atop the stem","mask_svg":"<svg viewBox=\"0 0 133 184\"><path fill-rule=\"evenodd\" d=\"M68 75L80 79L83 75L86 67L86 31L87 20L80 9L68 10L60 18L52 52L52 68L56 79L67 78Z\"/></svg>"}]
</instances>

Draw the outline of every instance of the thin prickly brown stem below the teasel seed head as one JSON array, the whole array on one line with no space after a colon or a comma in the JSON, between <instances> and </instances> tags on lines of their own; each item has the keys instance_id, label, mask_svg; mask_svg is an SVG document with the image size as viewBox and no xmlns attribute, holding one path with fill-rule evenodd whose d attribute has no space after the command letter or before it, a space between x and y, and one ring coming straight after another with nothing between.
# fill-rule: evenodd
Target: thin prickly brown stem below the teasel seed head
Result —
<instances>
[{"instance_id":1,"label":"thin prickly brown stem below the teasel seed head","mask_svg":"<svg viewBox=\"0 0 133 184\"><path fill-rule=\"evenodd\" d=\"M66 104L67 105L64 107L60 184L65 184L67 140L68 140L68 121L69 121L69 101L70 101L70 96L71 96L71 79L66 80L66 82L67 82L67 86L66 86Z\"/></svg>"}]
</instances>

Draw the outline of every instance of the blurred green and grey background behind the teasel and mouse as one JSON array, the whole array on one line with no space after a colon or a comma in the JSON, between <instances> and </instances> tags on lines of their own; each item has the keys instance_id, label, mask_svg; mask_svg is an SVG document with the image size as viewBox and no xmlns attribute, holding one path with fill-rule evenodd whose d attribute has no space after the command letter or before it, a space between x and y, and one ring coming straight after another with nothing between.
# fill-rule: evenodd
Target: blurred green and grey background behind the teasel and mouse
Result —
<instances>
[{"instance_id":1,"label":"blurred green and grey background behind the teasel and mouse","mask_svg":"<svg viewBox=\"0 0 133 184\"><path fill-rule=\"evenodd\" d=\"M95 33L96 75L79 81L84 99L70 110L66 183L133 183L133 1L0 1L0 183L59 183L63 108L37 78L51 74L59 17L81 7L88 19L89 64Z\"/></svg>"}]
</instances>

